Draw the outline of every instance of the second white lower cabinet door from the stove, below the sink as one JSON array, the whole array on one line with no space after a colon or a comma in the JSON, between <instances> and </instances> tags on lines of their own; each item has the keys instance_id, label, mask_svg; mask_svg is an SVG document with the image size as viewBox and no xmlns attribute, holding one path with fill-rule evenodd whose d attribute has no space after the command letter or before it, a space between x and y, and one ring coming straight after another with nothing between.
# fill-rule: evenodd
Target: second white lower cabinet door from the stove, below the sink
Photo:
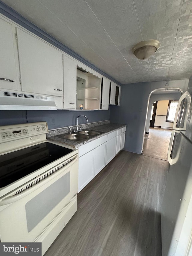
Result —
<instances>
[{"instance_id":1,"label":"second white lower cabinet door from the stove, below the sink","mask_svg":"<svg viewBox=\"0 0 192 256\"><path fill-rule=\"evenodd\" d=\"M95 176L105 167L107 142L94 150Z\"/></svg>"}]
</instances>

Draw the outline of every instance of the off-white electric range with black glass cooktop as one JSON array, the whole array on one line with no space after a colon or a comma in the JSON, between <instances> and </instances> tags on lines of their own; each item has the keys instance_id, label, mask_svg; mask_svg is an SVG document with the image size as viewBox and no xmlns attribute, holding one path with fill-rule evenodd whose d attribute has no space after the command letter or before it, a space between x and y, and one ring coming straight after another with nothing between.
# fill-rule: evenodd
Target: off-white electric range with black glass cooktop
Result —
<instances>
[{"instance_id":1,"label":"off-white electric range with black glass cooktop","mask_svg":"<svg viewBox=\"0 0 192 256\"><path fill-rule=\"evenodd\" d=\"M46 122L0 127L0 241L46 252L77 209L78 149L46 140Z\"/></svg>"}]
</instances>

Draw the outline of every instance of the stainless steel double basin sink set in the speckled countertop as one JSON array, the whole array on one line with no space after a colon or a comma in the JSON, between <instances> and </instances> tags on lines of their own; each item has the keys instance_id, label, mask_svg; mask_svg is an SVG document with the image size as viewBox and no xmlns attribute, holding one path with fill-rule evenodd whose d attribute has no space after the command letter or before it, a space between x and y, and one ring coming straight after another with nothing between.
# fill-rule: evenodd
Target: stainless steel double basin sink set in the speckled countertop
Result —
<instances>
[{"instance_id":1,"label":"stainless steel double basin sink set in the speckled countertop","mask_svg":"<svg viewBox=\"0 0 192 256\"><path fill-rule=\"evenodd\" d=\"M75 133L61 134L61 135L58 135L57 137L66 139L66 140L82 141L82 140L88 140L90 138L93 138L101 133L103 132L93 131L93 130L80 130Z\"/></svg>"}]
</instances>

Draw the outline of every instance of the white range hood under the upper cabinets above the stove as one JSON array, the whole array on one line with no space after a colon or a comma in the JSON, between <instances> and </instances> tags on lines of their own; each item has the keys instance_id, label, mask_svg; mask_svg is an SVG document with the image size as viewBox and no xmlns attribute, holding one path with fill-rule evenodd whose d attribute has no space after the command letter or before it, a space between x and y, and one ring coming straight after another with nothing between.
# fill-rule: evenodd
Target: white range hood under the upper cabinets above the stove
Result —
<instances>
[{"instance_id":1,"label":"white range hood under the upper cabinets above the stove","mask_svg":"<svg viewBox=\"0 0 192 256\"><path fill-rule=\"evenodd\" d=\"M0 110L57 110L53 97L0 91Z\"/></svg>"}]
</instances>

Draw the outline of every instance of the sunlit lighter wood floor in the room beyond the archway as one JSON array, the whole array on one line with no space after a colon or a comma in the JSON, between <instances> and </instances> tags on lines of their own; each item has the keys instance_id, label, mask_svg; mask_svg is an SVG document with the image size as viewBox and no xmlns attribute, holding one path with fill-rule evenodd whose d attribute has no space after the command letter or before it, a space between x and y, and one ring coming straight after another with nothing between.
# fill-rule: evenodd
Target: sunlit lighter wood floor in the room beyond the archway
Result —
<instances>
[{"instance_id":1,"label":"sunlit lighter wood floor in the room beyond the archway","mask_svg":"<svg viewBox=\"0 0 192 256\"><path fill-rule=\"evenodd\" d=\"M161 128L149 128L149 135L145 135L149 140L144 140L143 155L167 160L171 131Z\"/></svg>"}]
</instances>

